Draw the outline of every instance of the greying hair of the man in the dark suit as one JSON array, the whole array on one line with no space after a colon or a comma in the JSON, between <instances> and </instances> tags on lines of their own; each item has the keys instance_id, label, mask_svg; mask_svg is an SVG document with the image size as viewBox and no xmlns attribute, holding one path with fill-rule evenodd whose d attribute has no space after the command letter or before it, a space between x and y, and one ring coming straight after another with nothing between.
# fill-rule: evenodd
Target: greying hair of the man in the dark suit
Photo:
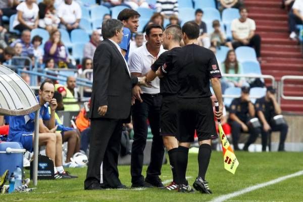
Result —
<instances>
[{"instance_id":1,"label":"greying hair of the man in the dark suit","mask_svg":"<svg viewBox=\"0 0 303 202\"><path fill-rule=\"evenodd\" d=\"M120 31L123 23L117 19L109 19L102 23L102 36L104 39L115 36L116 31Z\"/></svg>"}]
</instances>

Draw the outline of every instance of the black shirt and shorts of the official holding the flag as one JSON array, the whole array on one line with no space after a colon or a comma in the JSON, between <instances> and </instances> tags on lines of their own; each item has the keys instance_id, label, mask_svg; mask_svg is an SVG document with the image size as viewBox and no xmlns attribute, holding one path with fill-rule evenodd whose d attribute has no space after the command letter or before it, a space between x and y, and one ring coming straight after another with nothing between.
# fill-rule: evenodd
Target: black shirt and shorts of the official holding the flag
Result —
<instances>
[{"instance_id":1,"label":"black shirt and shorts of the official holding the flag","mask_svg":"<svg viewBox=\"0 0 303 202\"><path fill-rule=\"evenodd\" d=\"M197 44L189 44L176 52L171 63L167 62L165 71L169 73L170 67L174 67L177 72L177 139L179 142L192 142L195 129L199 141L211 139L211 135L217 132L210 79L221 78L214 53Z\"/></svg>"}]
</instances>

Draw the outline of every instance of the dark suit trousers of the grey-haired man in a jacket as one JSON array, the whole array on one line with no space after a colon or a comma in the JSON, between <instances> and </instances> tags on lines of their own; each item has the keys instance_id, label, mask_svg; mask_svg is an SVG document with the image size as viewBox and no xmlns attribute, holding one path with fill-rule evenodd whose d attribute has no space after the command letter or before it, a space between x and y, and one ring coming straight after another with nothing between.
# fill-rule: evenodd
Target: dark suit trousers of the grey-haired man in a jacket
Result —
<instances>
[{"instance_id":1,"label":"dark suit trousers of the grey-haired man in a jacket","mask_svg":"<svg viewBox=\"0 0 303 202\"><path fill-rule=\"evenodd\" d=\"M89 157L84 187L100 183L109 188L121 185L118 156L122 134L120 119L91 119Z\"/></svg>"}]
</instances>

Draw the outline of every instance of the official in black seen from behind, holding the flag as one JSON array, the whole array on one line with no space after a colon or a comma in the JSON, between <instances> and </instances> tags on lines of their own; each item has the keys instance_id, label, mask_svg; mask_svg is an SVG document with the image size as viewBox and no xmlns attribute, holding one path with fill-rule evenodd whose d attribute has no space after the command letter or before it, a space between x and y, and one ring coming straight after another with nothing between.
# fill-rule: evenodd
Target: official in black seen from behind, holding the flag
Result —
<instances>
[{"instance_id":1,"label":"official in black seen from behind, holding the flag","mask_svg":"<svg viewBox=\"0 0 303 202\"><path fill-rule=\"evenodd\" d=\"M180 48L171 63L178 78L178 102L177 117L179 140L177 158L178 191L192 192L185 175L188 161L188 148L194 140L194 130L197 131L199 141L198 164L199 174L193 183L193 187L201 193L212 193L205 180L211 158L211 135L217 134L214 112L212 107L212 95L210 80L219 102L219 112L216 118L222 119L223 100L221 93L221 72L217 59L212 51L198 45L199 26L194 22L187 22L182 26L182 38L185 46ZM169 71L166 68L165 71Z\"/></svg>"}]
</instances>

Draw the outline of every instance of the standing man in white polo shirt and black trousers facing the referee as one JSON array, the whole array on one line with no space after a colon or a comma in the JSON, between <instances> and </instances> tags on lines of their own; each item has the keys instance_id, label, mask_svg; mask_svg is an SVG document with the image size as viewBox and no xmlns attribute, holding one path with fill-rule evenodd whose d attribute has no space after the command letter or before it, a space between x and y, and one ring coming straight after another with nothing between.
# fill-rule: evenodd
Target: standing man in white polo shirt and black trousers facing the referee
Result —
<instances>
[{"instance_id":1,"label":"standing man in white polo shirt and black trousers facing the referee","mask_svg":"<svg viewBox=\"0 0 303 202\"><path fill-rule=\"evenodd\" d=\"M162 47L163 28L150 24L146 27L147 42L138 47L130 56L128 64L132 76L143 76L150 70L157 58L165 51ZM159 178L164 156L164 145L160 136L160 80L151 81L152 87L134 87L133 94L137 97L132 109L134 138L131 150L132 187L164 187ZM140 96L141 93L141 96ZM143 150L147 138L147 119L153 133L150 163L144 180L142 173Z\"/></svg>"}]
</instances>

